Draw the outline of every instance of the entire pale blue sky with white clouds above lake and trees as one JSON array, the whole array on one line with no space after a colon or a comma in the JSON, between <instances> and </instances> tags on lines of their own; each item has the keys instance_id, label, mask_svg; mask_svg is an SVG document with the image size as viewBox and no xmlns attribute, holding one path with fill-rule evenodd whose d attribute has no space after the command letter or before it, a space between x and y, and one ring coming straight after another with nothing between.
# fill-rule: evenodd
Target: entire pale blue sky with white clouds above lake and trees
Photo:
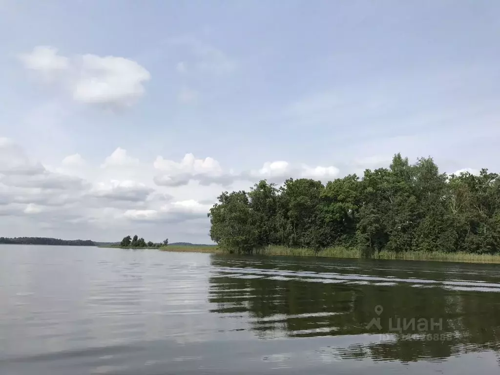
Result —
<instances>
[{"instance_id":1,"label":"entire pale blue sky with white clouds above lake and trees","mask_svg":"<svg viewBox=\"0 0 500 375\"><path fill-rule=\"evenodd\" d=\"M497 1L0 0L2 236L210 243L260 178L500 171Z\"/></svg>"}]
</instances>

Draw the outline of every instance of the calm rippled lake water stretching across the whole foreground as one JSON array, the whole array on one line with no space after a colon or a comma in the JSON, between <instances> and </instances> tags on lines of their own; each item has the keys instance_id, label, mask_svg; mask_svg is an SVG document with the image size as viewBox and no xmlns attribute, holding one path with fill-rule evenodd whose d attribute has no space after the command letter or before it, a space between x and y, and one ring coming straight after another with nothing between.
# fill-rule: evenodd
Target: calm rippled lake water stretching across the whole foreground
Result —
<instances>
[{"instance_id":1,"label":"calm rippled lake water stretching across the whole foreground","mask_svg":"<svg viewBox=\"0 0 500 375\"><path fill-rule=\"evenodd\" d=\"M0 373L497 374L499 271L1 245Z\"/></svg>"}]
</instances>

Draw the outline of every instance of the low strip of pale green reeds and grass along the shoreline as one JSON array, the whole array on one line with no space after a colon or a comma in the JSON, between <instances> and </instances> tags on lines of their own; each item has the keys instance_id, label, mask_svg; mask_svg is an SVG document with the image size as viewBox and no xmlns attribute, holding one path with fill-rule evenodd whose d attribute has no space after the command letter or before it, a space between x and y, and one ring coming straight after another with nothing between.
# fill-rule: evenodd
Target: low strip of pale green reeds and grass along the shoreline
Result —
<instances>
[{"instance_id":1,"label":"low strip of pale green reeds and grass along the shoreline","mask_svg":"<svg viewBox=\"0 0 500 375\"><path fill-rule=\"evenodd\" d=\"M162 247L164 251L192 251L209 253L226 253L217 246L167 246ZM285 246L267 246L259 251L259 255L285 255L285 256L317 256L331 258L362 258L360 250L346 247L330 247L318 252L308 248L289 248ZM500 263L500 254L473 254L467 252L389 252L381 251L373 254L374 259L401 259L401 260L438 260L438 261L456 261L469 263Z\"/></svg>"}]
</instances>

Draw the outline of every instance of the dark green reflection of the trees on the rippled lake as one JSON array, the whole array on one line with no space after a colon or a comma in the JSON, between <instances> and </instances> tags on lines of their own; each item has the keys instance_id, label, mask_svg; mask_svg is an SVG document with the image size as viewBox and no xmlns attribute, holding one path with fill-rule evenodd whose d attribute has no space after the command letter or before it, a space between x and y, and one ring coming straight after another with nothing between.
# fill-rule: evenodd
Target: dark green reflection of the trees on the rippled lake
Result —
<instances>
[{"instance_id":1,"label":"dark green reflection of the trees on the rippled lake","mask_svg":"<svg viewBox=\"0 0 500 375\"><path fill-rule=\"evenodd\" d=\"M231 263L220 264L230 267ZM324 280L323 280L324 281ZM440 287L420 288L409 284L380 286L315 282L299 279L210 277L209 301L212 311L230 315L248 313L248 324L259 337L285 335L335 336L372 333L373 341L343 348L350 358L398 359L446 358L456 353L498 350L500 342L500 298L494 292L450 291ZM366 328L377 315L374 306L383 306L381 329ZM442 330L422 333L446 334L444 340L408 339L391 330L389 318L425 318L438 321ZM394 325L393 325L394 326ZM379 341L378 334L395 334Z\"/></svg>"}]
</instances>

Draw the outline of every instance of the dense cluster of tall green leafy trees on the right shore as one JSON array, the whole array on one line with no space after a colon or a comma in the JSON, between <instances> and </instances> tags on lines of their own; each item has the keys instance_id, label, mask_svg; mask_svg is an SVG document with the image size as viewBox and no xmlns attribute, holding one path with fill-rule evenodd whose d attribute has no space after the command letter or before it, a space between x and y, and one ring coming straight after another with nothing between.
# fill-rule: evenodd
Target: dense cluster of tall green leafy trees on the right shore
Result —
<instances>
[{"instance_id":1,"label":"dense cluster of tall green leafy trees on the right shore","mask_svg":"<svg viewBox=\"0 0 500 375\"><path fill-rule=\"evenodd\" d=\"M440 173L431 157L394 155L388 168L366 169L323 185L265 180L250 191L222 192L208 213L220 247L252 252L268 245L319 250L494 253L500 249L500 177Z\"/></svg>"}]
</instances>

